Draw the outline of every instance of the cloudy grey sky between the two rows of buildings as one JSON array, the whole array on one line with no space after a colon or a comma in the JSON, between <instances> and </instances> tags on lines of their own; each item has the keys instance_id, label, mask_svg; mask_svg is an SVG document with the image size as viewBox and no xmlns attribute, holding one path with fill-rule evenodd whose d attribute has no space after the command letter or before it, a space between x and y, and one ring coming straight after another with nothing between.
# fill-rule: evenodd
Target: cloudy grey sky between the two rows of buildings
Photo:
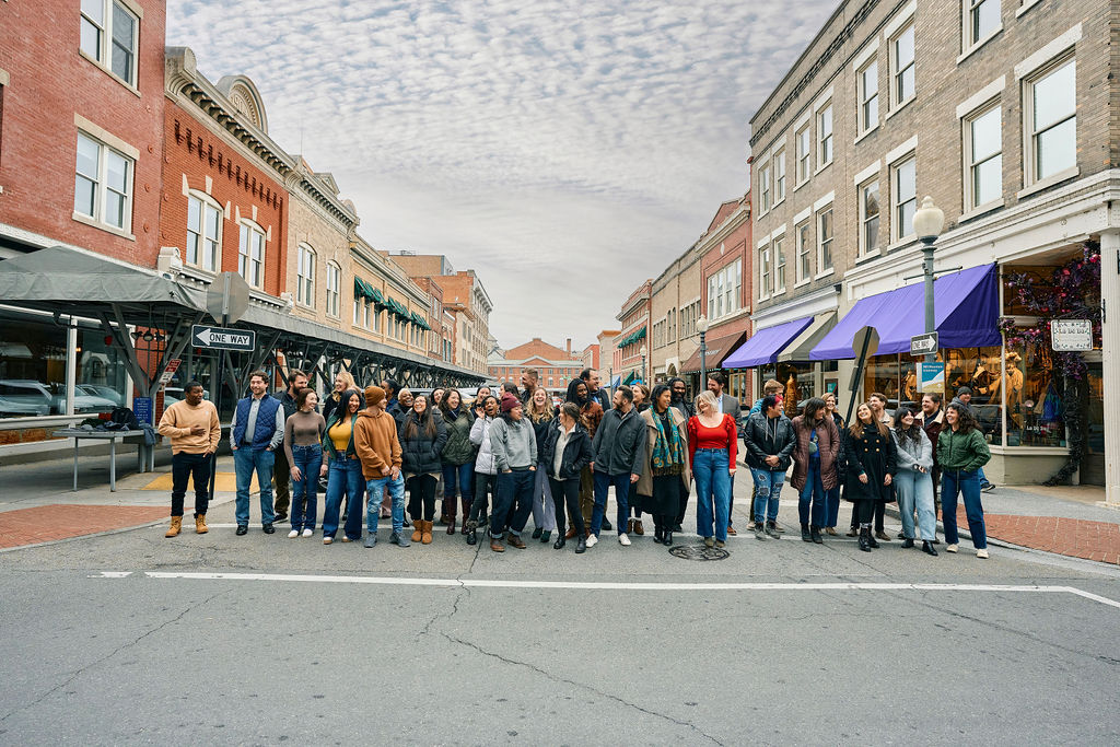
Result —
<instances>
[{"instance_id":1,"label":"cloudy grey sky between the two rows of buildings","mask_svg":"<svg viewBox=\"0 0 1120 747\"><path fill-rule=\"evenodd\" d=\"M837 0L169 0L379 249L447 254L491 332L582 347L748 188L748 120Z\"/></svg>"}]
</instances>

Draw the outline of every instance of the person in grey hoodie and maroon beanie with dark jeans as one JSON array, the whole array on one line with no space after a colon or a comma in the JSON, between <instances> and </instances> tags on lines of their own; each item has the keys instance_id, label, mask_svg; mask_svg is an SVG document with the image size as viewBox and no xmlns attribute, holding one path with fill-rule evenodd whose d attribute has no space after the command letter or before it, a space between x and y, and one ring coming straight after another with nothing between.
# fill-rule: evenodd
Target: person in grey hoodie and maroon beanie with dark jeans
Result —
<instances>
[{"instance_id":1,"label":"person in grey hoodie and maroon beanie with dark jeans","mask_svg":"<svg viewBox=\"0 0 1120 747\"><path fill-rule=\"evenodd\" d=\"M491 513L491 550L505 551L502 533L506 527L506 541L524 550L521 531L525 529L533 508L536 435L524 417L521 400L514 394L506 392L502 395L502 417L494 421L489 437L497 466L497 497Z\"/></svg>"}]
</instances>

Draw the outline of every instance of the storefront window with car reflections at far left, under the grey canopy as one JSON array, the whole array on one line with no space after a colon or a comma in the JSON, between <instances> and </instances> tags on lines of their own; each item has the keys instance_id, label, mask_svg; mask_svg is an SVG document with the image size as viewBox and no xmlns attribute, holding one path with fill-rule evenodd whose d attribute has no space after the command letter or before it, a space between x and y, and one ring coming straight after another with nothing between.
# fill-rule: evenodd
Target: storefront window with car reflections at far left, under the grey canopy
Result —
<instances>
[{"instance_id":1,"label":"storefront window with car reflections at far left, under the grey canopy","mask_svg":"<svg viewBox=\"0 0 1120 747\"><path fill-rule=\"evenodd\" d=\"M0 312L0 418L66 414L66 327Z\"/></svg>"}]
</instances>

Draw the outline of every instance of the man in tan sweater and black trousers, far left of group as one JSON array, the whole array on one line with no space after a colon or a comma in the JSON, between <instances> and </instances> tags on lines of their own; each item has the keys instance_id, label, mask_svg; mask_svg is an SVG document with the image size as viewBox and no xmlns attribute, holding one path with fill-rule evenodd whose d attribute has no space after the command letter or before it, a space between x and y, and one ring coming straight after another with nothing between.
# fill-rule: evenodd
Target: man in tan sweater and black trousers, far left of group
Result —
<instances>
[{"instance_id":1,"label":"man in tan sweater and black trousers, far left of group","mask_svg":"<svg viewBox=\"0 0 1120 747\"><path fill-rule=\"evenodd\" d=\"M205 534L206 507L209 505L209 478L214 452L222 440L217 408L203 399L203 385L188 381L186 399L164 411L159 433L171 439L171 527L164 536L177 536L183 529L183 498L187 479L195 484L195 532Z\"/></svg>"}]
</instances>

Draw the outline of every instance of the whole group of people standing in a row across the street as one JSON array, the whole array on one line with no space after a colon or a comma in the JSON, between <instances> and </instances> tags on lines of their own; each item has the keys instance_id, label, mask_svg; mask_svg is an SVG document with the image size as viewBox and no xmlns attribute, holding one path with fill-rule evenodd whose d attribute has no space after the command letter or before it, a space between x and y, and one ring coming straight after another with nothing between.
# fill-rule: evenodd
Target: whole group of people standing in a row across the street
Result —
<instances>
[{"instance_id":1,"label":"whole group of people standing in a row across the street","mask_svg":"<svg viewBox=\"0 0 1120 747\"><path fill-rule=\"evenodd\" d=\"M315 534L325 479L324 544L335 541L339 524L343 542L361 541L363 515L367 548L377 542L381 519L391 520L391 543L430 544L440 483L439 523L446 533L476 544L483 529L494 552L524 549L530 516L530 539L552 541L557 550L575 540L576 552L585 552L603 530L612 530L606 511L612 487L623 547L632 544L631 535L645 534L643 514L652 519L654 541L672 545L693 485L703 543L724 547L736 533L739 402L724 391L719 372L688 401L680 379L652 391L644 384L618 386L608 398L598 375L585 370L559 407L531 368L520 389L512 382L498 391L483 386L472 402L452 387L413 396L392 380L360 390L345 372L321 402L302 372L293 372L289 386L276 394L268 393L268 381L262 371L250 375L249 395L237 402L230 429L237 535L249 531L254 475L262 530L274 533L290 507L291 539ZM159 424L172 448L169 538L181 532L188 478L195 486L195 531L208 531L208 485L222 433L202 385L192 381L184 390L185 399L169 407ZM886 398L872 394L846 426L834 394L810 399L791 420L781 392L780 382L767 382L743 427L757 539L783 531L778 496L792 466L806 542L821 543L822 532L837 534L842 488L853 503L849 535L859 538L861 550L889 539L883 508L897 501L904 547L921 539L922 549L935 555L940 474L946 549L958 549L955 505L963 493L977 554L987 557L979 470L989 454L967 403L954 400L943 410L940 395L931 393L921 413L904 405L892 418L884 411Z\"/></svg>"}]
</instances>

